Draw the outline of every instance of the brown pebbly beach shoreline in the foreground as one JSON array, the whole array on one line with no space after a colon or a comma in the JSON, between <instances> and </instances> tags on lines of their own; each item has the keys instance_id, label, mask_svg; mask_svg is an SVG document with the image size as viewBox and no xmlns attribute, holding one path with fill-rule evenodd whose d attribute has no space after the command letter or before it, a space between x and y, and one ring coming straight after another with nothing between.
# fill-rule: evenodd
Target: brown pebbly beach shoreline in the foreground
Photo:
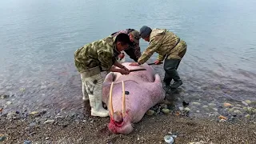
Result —
<instances>
[{"instance_id":1,"label":"brown pebbly beach shoreline in the foreground","mask_svg":"<svg viewBox=\"0 0 256 144\"><path fill-rule=\"evenodd\" d=\"M0 116L3 143L165 143L173 134L175 143L254 143L256 122L219 122L218 118L193 118L176 114L144 115L128 135L112 134L107 129L110 118L85 114L46 116L30 114L23 118ZM0 143L2 143L0 142Z\"/></svg>"}]
</instances>

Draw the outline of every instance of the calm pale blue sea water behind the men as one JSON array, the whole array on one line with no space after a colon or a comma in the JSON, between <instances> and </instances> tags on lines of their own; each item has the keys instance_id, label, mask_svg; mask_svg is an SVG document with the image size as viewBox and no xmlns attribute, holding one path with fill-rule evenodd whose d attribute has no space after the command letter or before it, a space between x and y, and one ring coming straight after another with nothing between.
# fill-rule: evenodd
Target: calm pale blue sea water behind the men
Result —
<instances>
[{"instance_id":1,"label":"calm pale blue sea water behind the men","mask_svg":"<svg viewBox=\"0 0 256 144\"><path fill-rule=\"evenodd\" d=\"M171 30L188 44L178 68L184 80L178 97L216 106L255 101L255 14L254 0L1 1L0 93L13 96L0 99L0 106L81 110L74 51L143 25ZM146 46L141 40L142 50ZM163 76L161 66L154 68Z\"/></svg>"}]
</instances>

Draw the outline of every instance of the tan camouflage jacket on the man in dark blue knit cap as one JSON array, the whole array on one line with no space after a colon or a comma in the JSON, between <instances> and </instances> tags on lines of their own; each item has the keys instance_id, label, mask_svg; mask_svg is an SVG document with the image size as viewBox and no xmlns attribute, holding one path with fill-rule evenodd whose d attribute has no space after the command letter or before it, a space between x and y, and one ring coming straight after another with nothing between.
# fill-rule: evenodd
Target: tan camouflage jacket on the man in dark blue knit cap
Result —
<instances>
[{"instance_id":1,"label":"tan camouflage jacket on the man in dark blue knit cap","mask_svg":"<svg viewBox=\"0 0 256 144\"><path fill-rule=\"evenodd\" d=\"M145 63L154 52L158 53L158 60L162 61L166 55L172 53L181 52L186 49L186 42L182 41L181 46L177 46L180 42L180 38L174 33L166 29L153 29L150 34L150 46L146 48L142 56L138 58L140 64ZM178 55L178 54L177 54ZM168 58L179 58L176 54L173 57Z\"/></svg>"}]
</instances>

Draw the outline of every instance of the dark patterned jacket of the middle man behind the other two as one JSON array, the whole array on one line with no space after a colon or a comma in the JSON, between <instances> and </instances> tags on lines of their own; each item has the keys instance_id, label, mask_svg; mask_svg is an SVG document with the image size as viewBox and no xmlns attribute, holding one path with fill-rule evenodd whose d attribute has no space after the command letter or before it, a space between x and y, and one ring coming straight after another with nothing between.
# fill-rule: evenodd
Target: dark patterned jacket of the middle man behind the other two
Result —
<instances>
[{"instance_id":1,"label":"dark patterned jacket of the middle man behind the other two","mask_svg":"<svg viewBox=\"0 0 256 144\"><path fill-rule=\"evenodd\" d=\"M111 34L113 37L116 37L118 34L130 34L131 31L134 29L126 29L126 30L120 30L118 32L115 32ZM138 58L142 55L141 54L141 48L139 47L139 43L132 42L132 44L125 50L126 54L130 56L131 59L134 59L135 62L138 61Z\"/></svg>"}]
</instances>

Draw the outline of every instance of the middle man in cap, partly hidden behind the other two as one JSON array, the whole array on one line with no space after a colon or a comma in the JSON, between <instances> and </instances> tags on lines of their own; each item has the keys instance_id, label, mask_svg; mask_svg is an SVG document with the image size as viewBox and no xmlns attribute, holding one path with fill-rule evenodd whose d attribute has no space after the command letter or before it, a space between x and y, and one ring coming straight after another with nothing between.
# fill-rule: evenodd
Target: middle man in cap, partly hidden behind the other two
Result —
<instances>
[{"instance_id":1,"label":"middle man in cap, partly hidden behind the other two","mask_svg":"<svg viewBox=\"0 0 256 144\"><path fill-rule=\"evenodd\" d=\"M118 32L115 32L111 34L111 36L116 37L118 34L127 34L130 38L130 46L125 50L126 54L130 56L131 59L133 59L135 62L138 61L138 58L142 55L141 49L139 47L139 33L137 30L134 29L126 29L126 30L120 30ZM119 58L124 58L125 54L121 53L119 55Z\"/></svg>"}]
</instances>

